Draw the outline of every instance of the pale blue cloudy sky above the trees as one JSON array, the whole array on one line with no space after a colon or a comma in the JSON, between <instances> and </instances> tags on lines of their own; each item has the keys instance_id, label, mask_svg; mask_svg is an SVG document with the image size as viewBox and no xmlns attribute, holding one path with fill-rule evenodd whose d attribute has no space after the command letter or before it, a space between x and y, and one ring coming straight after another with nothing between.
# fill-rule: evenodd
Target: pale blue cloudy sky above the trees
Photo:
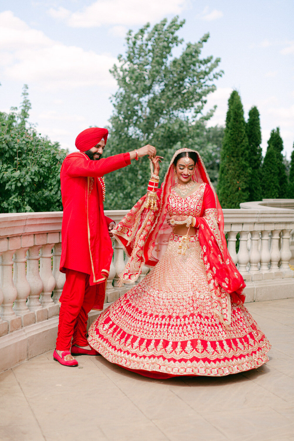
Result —
<instances>
[{"instance_id":1,"label":"pale blue cloudy sky above the trees","mask_svg":"<svg viewBox=\"0 0 294 441\"><path fill-rule=\"evenodd\" d=\"M210 33L202 55L221 58L225 72L208 98L218 106L209 125L223 124L231 90L247 118L261 114L262 146L279 126L284 154L294 142L293 0L1 0L0 110L19 106L29 86L30 121L61 146L104 126L116 83L109 73L123 53L127 30L164 17L186 19L180 35L195 42ZM160 147L160 146L158 146ZM131 149L131 146L130 146Z\"/></svg>"}]
</instances>

